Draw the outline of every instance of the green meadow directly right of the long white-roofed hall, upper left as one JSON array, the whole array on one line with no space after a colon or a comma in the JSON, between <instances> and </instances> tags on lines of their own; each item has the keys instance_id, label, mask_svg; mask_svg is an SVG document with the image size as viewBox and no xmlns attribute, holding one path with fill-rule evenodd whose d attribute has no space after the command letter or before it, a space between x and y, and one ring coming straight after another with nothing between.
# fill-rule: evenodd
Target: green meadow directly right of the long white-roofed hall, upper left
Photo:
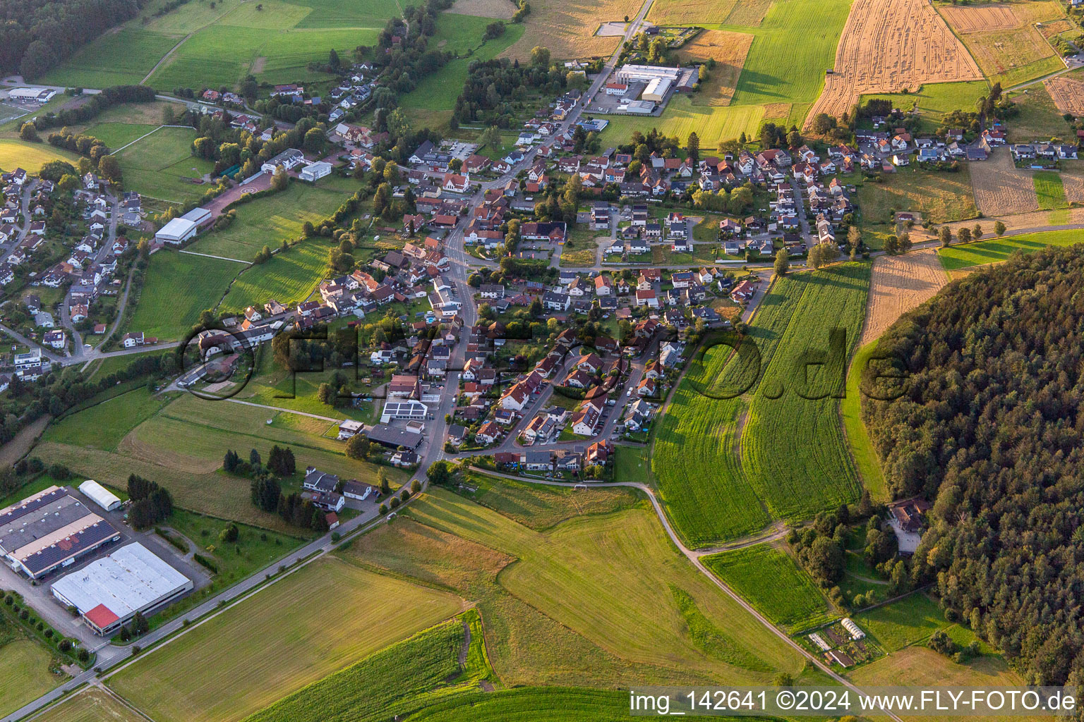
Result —
<instances>
[{"instance_id":1,"label":"green meadow directly right of the long white-roofed hall, upper left","mask_svg":"<svg viewBox=\"0 0 1084 722\"><path fill-rule=\"evenodd\" d=\"M237 206L237 218L230 227L201 236L188 250L249 262L264 246L273 250L282 246L283 240L296 240L306 221L313 224L323 221L348 197L349 194L343 191L291 183L281 193Z\"/></svg>"}]
</instances>

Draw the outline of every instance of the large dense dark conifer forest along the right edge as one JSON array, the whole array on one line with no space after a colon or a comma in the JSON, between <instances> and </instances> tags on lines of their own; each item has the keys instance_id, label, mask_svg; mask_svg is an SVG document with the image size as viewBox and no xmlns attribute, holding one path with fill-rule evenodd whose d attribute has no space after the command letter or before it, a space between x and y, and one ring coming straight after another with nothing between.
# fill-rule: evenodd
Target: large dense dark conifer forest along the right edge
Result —
<instances>
[{"instance_id":1,"label":"large dense dark conifer forest along the right edge","mask_svg":"<svg viewBox=\"0 0 1084 722\"><path fill-rule=\"evenodd\" d=\"M1016 254L906 314L863 373L894 498L933 501L912 562L1029 682L1084 681L1084 248ZM874 367L876 368L876 366ZM892 388L903 395L877 401Z\"/></svg>"}]
</instances>

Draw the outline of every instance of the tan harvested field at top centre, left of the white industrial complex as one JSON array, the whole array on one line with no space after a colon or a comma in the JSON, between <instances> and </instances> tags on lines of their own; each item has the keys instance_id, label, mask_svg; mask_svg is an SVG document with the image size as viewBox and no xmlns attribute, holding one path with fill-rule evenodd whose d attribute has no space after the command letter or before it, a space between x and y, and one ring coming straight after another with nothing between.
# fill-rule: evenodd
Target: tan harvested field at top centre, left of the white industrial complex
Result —
<instances>
[{"instance_id":1,"label":"tan harvested field at top centre, left of the white industrial complex","mask_svg":"<svg viewBox=\"0 0 1084 722\"><path fill-rule=\"evenodd\" d=\"M621 39L595 36L598 25L634 17L641 6L637 0L532 0L524 35L501 56L527 61L535 45L549 48L555 61L609 55Z\"/></svg>"}]
</instances>

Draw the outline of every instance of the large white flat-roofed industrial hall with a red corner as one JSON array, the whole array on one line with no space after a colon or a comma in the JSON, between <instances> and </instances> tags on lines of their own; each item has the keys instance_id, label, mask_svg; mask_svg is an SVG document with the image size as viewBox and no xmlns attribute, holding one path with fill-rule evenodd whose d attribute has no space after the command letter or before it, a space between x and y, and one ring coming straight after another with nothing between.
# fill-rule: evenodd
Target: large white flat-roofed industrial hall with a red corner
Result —
<instances>
[{"instance_id":1,"label":"large white flat-roofed industrial hall with a red corner","mask_svg":"<svg viewBox=\"0 0 1084 722\"><path fill-rule=\"evenodd\" d=\"M57 579L53 596L74 606L96 634L108 634L136 613L145 613L193 589L192 580L143 544L122 547Z\"/></svg>"}]
</instances>

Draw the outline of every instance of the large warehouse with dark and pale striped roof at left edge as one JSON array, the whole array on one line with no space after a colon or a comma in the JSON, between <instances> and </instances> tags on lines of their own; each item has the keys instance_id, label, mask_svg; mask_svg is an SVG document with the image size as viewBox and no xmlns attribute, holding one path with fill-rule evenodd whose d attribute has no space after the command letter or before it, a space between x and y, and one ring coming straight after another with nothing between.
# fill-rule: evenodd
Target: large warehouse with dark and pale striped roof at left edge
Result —
<instances>
[{"instance_id":1,"label":"large warehouse with dark and pale striped roof at left edge","mask_svg":"<svg viewBox=\"0 0 1084 722\"><path fill-rule=\"evenodd\" d=\"M59 486L0 510L0 556L31 579L119 539L113 525Z\"/></svg>"}]
</instances>

